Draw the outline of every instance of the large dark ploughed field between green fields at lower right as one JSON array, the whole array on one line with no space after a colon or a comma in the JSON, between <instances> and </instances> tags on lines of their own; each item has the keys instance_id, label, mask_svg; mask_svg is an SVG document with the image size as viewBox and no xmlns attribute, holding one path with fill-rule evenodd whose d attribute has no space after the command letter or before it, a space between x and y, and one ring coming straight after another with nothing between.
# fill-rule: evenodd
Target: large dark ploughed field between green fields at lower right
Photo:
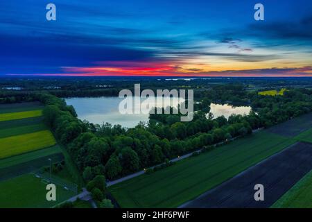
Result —
<instances>
[{"instance_id":1,"label":"large dark ploughed field between green fields at lower right","mask_svg":"<svg viewBox=\"0 0 312 222\"><path fill-rule=\"evenodd\" d=\"M250 167L180 207L270 207L312 169L312 144L299 142ZM264 200L254 200L254 185L264 187Z\"/></svg>"}]
</instances>

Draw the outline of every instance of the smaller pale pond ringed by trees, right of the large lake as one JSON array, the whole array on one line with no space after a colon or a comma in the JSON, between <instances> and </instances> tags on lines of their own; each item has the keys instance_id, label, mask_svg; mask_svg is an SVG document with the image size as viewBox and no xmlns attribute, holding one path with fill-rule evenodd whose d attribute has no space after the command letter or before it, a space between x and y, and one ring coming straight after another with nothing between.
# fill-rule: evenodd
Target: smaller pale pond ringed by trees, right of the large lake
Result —
<instances>
[{"instance_id":1,"label":"smaller pale pond ringed by trees, right of the large lake","mask_svg":"<svg viewBox=\"0 0 312 222\"><path fill-rule=\"evenodd\" d=\"M248 115L252 108L250 106L232 106L229 104L210 104L210 112L214 114L214 118L224 116L225 118L229 118L232 114L246 114ZM208 117L208 114L207 114Z\"/></svg>"}]
</instances>

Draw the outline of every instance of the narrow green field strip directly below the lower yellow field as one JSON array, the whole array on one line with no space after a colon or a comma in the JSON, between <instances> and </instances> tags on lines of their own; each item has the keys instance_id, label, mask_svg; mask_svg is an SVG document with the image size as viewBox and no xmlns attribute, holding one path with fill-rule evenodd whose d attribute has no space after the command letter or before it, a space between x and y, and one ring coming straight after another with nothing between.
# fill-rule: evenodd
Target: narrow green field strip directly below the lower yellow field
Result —
<instances>
[{"instance_id":1,"label":"narrow green field strip directly below the lower yellow field","mask_svg":"<svg viewBox=\"0 0 312 222\"><path fill-rule=\"evenodd\" d=\"M0 160L0 169L6 167L12 167L17 164L22 164L24 162L35 161L40 157L45 157L49 155L53 155L55 153L61 153L61 149L58 145L51 146L49 148L42 148L37 151L32 151L28 153L24 153L21 155L15 155L13 157L8 157Z\"/></svg>"}]
</instances>

